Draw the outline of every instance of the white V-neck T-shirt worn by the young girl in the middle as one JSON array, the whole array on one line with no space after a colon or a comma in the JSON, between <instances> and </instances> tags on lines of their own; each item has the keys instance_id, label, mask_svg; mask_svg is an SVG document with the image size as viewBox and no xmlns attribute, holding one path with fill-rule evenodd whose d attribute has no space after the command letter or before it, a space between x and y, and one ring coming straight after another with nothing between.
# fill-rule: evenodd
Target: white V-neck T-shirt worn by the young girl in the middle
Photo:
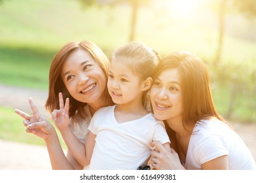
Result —
<instances>
[{"instance_id":1,"label":"white V-neck T-shirt worn by the young girl in the middle","mask_svg":"<svg viewBox=\"0 0 256 183\"><path fill-rule=\"evenodd\" d=\"M100 108L88 127L97 135L90 169L136 170L149 158L152 141L170 142L164 123L153 114L119 124L115 107Z\"/></svg>"}]
</instances>

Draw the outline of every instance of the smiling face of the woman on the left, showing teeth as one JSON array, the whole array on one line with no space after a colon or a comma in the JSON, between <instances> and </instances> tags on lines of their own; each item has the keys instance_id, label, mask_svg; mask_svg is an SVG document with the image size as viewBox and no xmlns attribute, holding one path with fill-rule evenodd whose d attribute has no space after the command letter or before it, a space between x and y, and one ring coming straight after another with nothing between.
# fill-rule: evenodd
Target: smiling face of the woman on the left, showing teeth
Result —
<instances>
[{"instance_id":1,"label":"smiling face of the woman on the left, showing teeth","mask_svg":"<svg viewBox=\"0 0 256 183\"><path fill-rule=\"evenodd\" d=\"M85 50L74 50L69 54L62 67L62 80L77 101L90 105L105 98L107 77Z\"/></svg>"}]
</instances>

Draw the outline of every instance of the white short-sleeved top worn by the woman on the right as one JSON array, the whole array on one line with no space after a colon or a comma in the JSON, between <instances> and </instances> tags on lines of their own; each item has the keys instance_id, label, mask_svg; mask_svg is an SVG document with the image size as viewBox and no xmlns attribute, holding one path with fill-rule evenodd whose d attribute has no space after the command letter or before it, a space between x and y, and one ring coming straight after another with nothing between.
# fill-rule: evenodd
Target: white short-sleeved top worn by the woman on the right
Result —
<instances>
[{"instance_id":1,"label":"white short-sleeved top worn by the woman on the right","mask_svg":"<svg viewBox=\"0 0 256 183\"><path fill-rule=\"evenodd\" d=\"M229 169L256 169L246 144L229 125L217 120L202 120L193 130L187 151L185 169L202 169L202 164L227 155Z\"/></svg>"}]
</instances>

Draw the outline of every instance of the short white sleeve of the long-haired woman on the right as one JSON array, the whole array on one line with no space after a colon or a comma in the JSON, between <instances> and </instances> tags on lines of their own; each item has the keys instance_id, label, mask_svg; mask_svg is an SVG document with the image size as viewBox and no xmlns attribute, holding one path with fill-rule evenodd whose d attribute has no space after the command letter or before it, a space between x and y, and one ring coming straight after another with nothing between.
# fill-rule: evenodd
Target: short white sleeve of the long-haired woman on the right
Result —
<instances>
[{"instance_id":1,"label":"short white sleeve of the long-haired woman on the right","mask_svg":"<svg viewBox=\"0 0 256 183\"><path fill-rule=\"evenodd\" d=\"M198 141L194 148L194 155L196 161L202 165L220 156L229 155L229 148L220 135L208 135Z\"/></svg>"}]
</instances>

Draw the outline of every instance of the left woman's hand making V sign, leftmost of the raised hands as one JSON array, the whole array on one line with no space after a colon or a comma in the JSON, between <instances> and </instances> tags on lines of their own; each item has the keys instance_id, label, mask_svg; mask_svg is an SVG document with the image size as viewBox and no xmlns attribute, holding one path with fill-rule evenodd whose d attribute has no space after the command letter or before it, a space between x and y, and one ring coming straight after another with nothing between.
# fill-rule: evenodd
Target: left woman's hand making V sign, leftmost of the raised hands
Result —
<instances>
[{"instance_id":1,"label":"left woman's hand making V sign, leftmost of the raised hands","mask_svg":"<svg viewBox=\"0 0 256 183\"><path fill-rule=\"evenodd\" d=\"M22 110L15 109L14 111L25 119L23 124L27 127L27 133L33 133L44 140L48 139L49 135L56 133L53 125L39 113L31 98L29 98L29 105L33 112L32 116Z\"/></svg>"}]
</instances>

